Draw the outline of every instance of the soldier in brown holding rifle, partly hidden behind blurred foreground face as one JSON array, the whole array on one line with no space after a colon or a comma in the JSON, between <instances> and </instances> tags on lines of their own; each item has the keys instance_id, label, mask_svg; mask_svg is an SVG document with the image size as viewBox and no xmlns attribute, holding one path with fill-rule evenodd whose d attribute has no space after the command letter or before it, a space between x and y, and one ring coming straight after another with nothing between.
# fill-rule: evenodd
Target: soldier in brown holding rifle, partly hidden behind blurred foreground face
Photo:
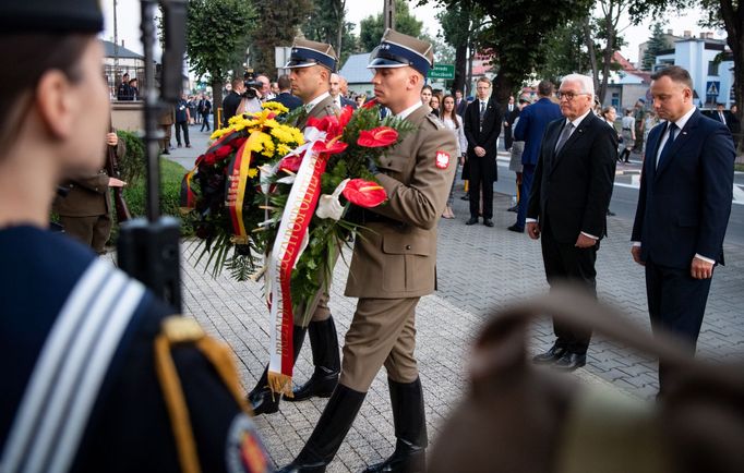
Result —
<instances>
[{"instance_id":1,"label":"soldier in brown holding rifle, partly hidden behind blurred foreground face","mask_svg":"<svg viewBox=\"0 0 744 473\"><path fill-rule=\"evenodd\" d=\"M116 148L117 158L127 153L124 142L116 133L106 134L106 144ZM67 196L55 199L52 211L59 215L64 232L104 254L111 234L111 193L109 187L121 187L123 181L110 178L105 169L96 174L68 180L61 184Z\"/></svg>"}]
</instances>

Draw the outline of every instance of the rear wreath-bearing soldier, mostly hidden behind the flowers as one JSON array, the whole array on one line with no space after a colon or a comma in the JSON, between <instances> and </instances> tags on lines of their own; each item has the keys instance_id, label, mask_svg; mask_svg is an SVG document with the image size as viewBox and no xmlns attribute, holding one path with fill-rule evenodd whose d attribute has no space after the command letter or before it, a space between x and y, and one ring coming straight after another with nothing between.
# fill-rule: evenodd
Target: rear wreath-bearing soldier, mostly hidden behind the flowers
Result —
<instances>
[{"instance_id":1,"label":"rear wreath-bearing soldier, mostly hidden behind the flowers","mask_svg":"<svg viewBox=\"0 0 744 473\"><path fill-rule=\"evenodd\" d=\"M292 53L285 68L291 71L289 78L292 93L302 100L302 107L304 107L296 126L304 129L310 117L321 119L339 113L328 93L331 73L336 71L336 52L331 45L307 39L295 40ZM312 397L327 398L338 383L341 368L338 336L328 308L328 288L323 283L316 298L313 301L303 302L295 314L292 331L295 359L297 360L300 353L307 331L310 335L310 348L315 369L308 383L295 389L292 398L287 398L288 401L303 401ZM307 310L308 304L311 306L309 310ZM310 323L303 319L304 314L312 314ZM249 393L249 401L255 414L269 414L279 409L279 396L268 389L267 369L264 369L261 379Z\"/></svg>"}]
</instances>

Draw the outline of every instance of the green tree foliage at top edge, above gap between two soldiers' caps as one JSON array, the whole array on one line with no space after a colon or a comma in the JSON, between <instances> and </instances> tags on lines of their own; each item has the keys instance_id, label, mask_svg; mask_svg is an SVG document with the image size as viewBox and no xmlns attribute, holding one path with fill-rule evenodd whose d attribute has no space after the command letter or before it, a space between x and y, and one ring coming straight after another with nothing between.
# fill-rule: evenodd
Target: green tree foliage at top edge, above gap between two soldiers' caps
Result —
<instances>
[{"instance_id":1,"label":"green tree foliage at top edge, above gap between two soldiers' caps","mask_svg":"<svg viewBox=\"0 0 744 473\"><path fill-rule=\"evenodd\" d=\"M314 0L310 16L302 25L305 38L333 45L339 56L339 68L357 51L355 24L346 21L346 0ZM340 44L340 46L339 46Z\"/></svg>"}]
</instances>

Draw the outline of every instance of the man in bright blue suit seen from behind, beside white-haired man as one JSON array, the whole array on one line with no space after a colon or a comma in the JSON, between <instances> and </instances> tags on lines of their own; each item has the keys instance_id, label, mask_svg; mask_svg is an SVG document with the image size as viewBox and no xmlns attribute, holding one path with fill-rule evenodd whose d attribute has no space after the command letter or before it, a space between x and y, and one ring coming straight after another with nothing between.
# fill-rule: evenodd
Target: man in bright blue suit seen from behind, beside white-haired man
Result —
<instances>
[{"instance_id":1,"label":"man in bright blue suit seen from behind, beside white-haired man","mask_svg":"<svg viewBox=\"0 0 744 473\"><path fill-rule=\"evenodd\" d=\"M521 154L521 190L519 195L528 197L532 190L535 168L540 156L540 144L548 123L561 117L561 108L550 100L553 95L553 84L550 81L541 81L538 84L540 99L525 107L519 113L519 121L514 128L514 140L525 142L525 151ZM519 201L517 222L508 229L517 233L525 231L525 216L527 215L527 198Z\"/></svg>"}]
</instances>

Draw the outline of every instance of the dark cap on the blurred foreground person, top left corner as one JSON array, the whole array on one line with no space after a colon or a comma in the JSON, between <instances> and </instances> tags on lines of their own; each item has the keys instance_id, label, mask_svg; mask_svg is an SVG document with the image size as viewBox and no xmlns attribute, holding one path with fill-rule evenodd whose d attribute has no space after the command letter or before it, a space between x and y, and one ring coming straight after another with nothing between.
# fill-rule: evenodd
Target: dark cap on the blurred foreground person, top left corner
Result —
<instances>
[{"instance_id":1,"label":"dark cap on the blurred foreground person, top left corner","mask_svg":"<svg viewBox=\"0 0 744 473\"><path fill-rule=\"evenodd\" d=\"M104 28L99 0L2 0L0 35L89 33Z\"/></svg>"}]
</instances>

